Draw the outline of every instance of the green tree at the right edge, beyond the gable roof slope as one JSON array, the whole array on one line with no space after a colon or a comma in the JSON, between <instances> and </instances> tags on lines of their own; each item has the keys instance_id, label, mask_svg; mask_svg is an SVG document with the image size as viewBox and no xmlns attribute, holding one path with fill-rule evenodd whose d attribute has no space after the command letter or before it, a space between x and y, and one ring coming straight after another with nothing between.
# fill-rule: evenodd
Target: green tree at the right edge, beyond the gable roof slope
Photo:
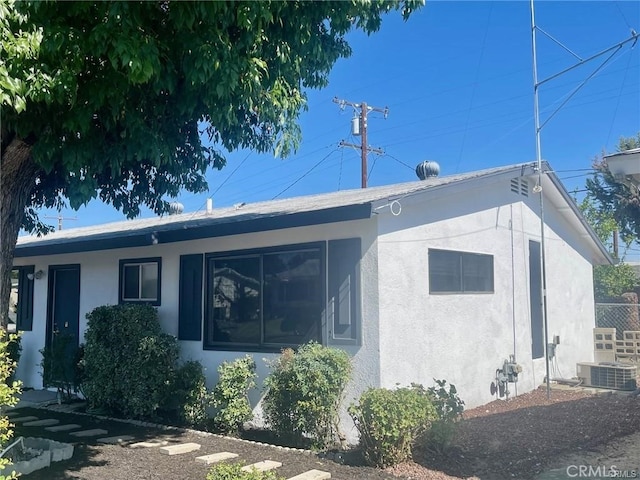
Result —
<instances>
[{"instance_id":1,"label":"green tree at the right edge, beyond the gable roof slope","mask_svg":"<svg viewBox=\"0 0 640 480\"><path fill-rule=\"evenodd\" d=\"M617 150L638 147L640 133L620 138ZM621 240L624 252L640 239L640 197L637 189L616 181L603 157L596 158L593 167L595 173L586 181L587 195L580 209L603 243L620 257L617 265L596 265L593 269L595 297L603 301L632 290L638 283L633 268L624 263L624 254L620 255L613 243Z\"/></svg>"}]
</instances>

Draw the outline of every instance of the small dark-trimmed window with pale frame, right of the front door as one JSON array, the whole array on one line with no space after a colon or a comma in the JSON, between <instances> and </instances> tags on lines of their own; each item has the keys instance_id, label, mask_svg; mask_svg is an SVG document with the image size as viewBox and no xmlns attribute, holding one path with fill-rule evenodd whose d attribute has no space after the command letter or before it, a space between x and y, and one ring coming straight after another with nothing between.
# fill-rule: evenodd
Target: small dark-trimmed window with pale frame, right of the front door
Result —
<instances>
[{"instance_id":1,"label":"small dark-trimmed window with pale frame, right of the front door","mask_svg":"<svg viewBox=\"0 0 640 480\"><path fill-rule=\"evenodd\" d=\"M160 258L120 260L120 303L160 305Z\"/></svg>"}]
</instances>

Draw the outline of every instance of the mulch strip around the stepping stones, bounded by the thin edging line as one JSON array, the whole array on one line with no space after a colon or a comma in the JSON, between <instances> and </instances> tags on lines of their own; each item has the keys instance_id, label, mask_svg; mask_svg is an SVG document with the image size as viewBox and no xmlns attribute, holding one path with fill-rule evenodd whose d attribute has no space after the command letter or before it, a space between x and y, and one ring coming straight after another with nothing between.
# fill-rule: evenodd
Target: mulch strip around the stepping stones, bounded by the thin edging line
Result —
<instances>
[{"instance_id":1,"label":"mulch strip around the stepping stones, bounded by the thin edging line","mask_svg":"<svg viewBox=\"0 0 640 480\"><path fill-rule=\"evenodd\" d=\"M289 478L307 470L318 469L331 473L336 479L395 479L385 473L369 467L341 465L332 460L321 458L310 452L285 450L255 442L225 438L216 435L185 431L180 429L161 429L153 426L139 426L131 423L94 417L89 415L62 413L46 409L21 408L22 415L33 415L41 419L56 418L62 423L77 423L83 429L101 428L109 433L103 436L131 435L136 441L152 438L168 441L170 444L194 442L202 445L196 452L182 455L165 455L158 448L129 448L125 445L101 445L94 439L77 439L68 432L49 432L43 427L15 428L15 436L46 437L75 444L71 459L52 463L51 467L33 472L23 478L29 480L147 480L147 479L202 479L210 467L196 463L195 458L217 452L233 452L239 457L234 461L251 464L262 460L275 460L282 463L277 469L278 475Z\"/></svg>"}]
</instances>

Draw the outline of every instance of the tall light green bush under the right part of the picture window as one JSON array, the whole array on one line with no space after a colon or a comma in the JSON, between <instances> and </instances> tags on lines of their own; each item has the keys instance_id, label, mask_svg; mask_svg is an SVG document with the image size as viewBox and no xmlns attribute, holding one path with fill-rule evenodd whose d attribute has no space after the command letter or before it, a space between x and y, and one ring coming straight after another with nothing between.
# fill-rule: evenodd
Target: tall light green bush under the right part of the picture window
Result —
<instances>
[{"instance_id":1,"label":"tall light green bush under the right part of the picture window","mask_svg":"<svg viewBox=\"0 0 640 480\"><path fill-rule=\"evenodd\" d=\"M283 350L271 368L263 406L276 433L295 445L307 436L315 448L326 448L341 437L338 409L351 374L344 350L311 342L297 353Z\"/></svg>"}]
</instances>

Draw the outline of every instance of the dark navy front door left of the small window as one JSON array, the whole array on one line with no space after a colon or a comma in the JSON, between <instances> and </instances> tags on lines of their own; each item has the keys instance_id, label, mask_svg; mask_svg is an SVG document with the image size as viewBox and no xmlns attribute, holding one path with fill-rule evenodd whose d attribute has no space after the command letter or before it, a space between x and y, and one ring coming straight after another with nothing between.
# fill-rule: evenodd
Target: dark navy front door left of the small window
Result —
<instances>
[{"instance_id":1,"label":"dark navy front door left of the small window","mask_svg":"<svg viewBox=\"0 0 640 480\"><path fill-rule=\"evenodd\" d=\"M73 383L80 336L80 265L49 267L46 386ZM48 370L48 371L47 371Z\"/></svg>"}]
</instances>

